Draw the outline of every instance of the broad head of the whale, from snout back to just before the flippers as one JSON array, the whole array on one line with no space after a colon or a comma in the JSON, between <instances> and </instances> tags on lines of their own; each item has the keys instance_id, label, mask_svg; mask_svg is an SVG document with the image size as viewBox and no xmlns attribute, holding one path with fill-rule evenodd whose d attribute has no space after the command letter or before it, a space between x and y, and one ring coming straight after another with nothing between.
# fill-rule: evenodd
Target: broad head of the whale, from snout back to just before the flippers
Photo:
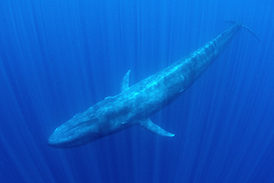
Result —
<instances>
[{"instance_id":1,"label":"broad head of the whale, from snout back to just before the flippers","mask_svg":"<svg viewBox=\"0 0 274 183\"><path fill-rule=\"evenodd\" d=\"M130 127L132 123L125 122L127 113L127 108L121 108L121 105L115 104L113 97L108 97L56 128L47 143L55 148L91 143Z\"/></svg>"}]
</instances>

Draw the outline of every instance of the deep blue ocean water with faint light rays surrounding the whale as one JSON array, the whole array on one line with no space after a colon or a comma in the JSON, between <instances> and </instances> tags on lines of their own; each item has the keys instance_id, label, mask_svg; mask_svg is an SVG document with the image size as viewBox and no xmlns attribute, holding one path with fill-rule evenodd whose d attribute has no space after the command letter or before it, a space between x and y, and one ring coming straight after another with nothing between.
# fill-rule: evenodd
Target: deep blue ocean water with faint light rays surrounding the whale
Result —
<instances>
[{"instance_id":1,"label":"deep blue ocean water with faint light rays surrounding the whale","mask_svg":"<svg viewBox=\"0 0 274 183\"><path fill-rule=\"evenodd\" d=\"M273 1L1 1L0 182L274 182ZM219 58L151 117L54 149L56 127L242 21Z\"/></svg>"}]
</instances>

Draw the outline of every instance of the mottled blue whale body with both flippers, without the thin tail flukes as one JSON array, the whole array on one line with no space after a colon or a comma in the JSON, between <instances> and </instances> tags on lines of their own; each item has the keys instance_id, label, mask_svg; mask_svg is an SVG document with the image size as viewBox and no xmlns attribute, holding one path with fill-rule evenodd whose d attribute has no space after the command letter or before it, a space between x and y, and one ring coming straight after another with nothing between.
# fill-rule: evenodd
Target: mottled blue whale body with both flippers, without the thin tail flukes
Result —
<instances>
[{"instance_id":1,"label":"mottled blue whale body with both flippers, without the thin tail flukes","mask_svg":"<svg viewBox=\"0 0 274 183\"><path fill-rule=\"evenodd\" d=\"M149 117L190 87L218 58L241 27L240 23L235 23L197 51L134 86L128 86L127 72L119 95L106 97L60 125L49 136L48 144L57 148L77 147L133 125L141 125L154 134L174 136L152 123Z\"/></svg>"}]
</instances>

